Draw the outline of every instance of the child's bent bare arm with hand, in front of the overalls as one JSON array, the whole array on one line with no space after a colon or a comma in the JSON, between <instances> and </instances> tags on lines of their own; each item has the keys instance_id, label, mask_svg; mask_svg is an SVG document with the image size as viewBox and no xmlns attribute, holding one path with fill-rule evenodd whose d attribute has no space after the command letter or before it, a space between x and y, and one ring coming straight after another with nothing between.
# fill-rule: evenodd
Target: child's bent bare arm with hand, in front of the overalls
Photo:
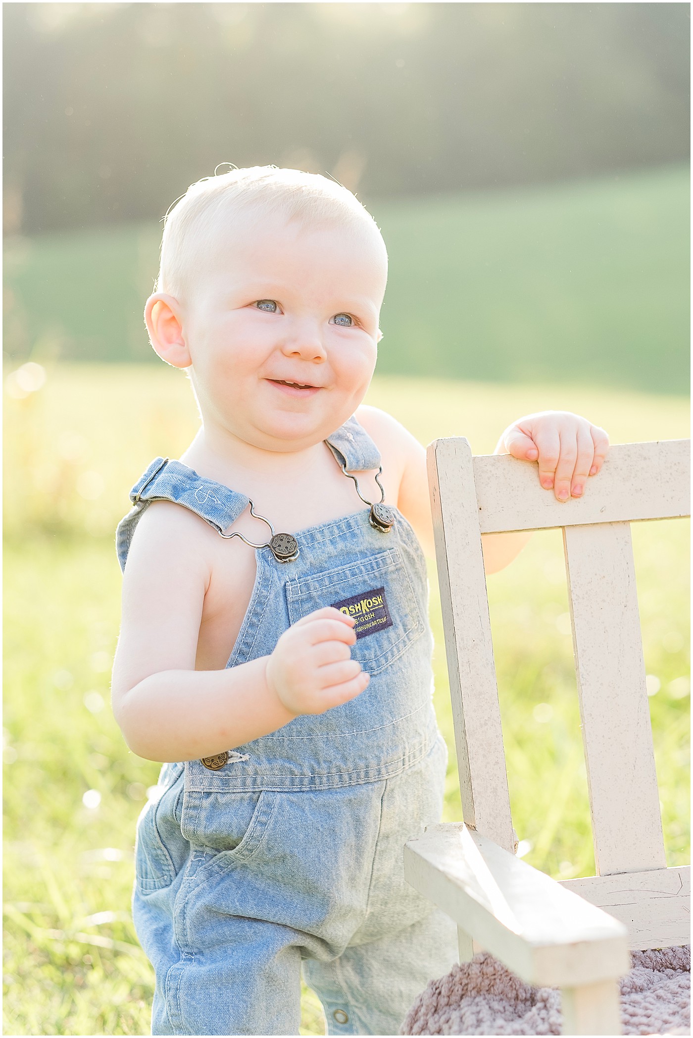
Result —
<instances>
[{"instance_id":1,"label":"child's bent bare arm with hand, in front of the overalls","mask_svg":"<svg viewBox=\"0 0 693 1038\"><path fill-rule=\"evenodd\" d=\"M198 522L178 506L151 506L126 567L113 713L130 748L154 761L231 749L301 713L346 702L367 684L368 676L351 659L353 621L336 609L295 624L271 656L195 671L210 580L196 547Z\"/></svg>"}]
</instances>

